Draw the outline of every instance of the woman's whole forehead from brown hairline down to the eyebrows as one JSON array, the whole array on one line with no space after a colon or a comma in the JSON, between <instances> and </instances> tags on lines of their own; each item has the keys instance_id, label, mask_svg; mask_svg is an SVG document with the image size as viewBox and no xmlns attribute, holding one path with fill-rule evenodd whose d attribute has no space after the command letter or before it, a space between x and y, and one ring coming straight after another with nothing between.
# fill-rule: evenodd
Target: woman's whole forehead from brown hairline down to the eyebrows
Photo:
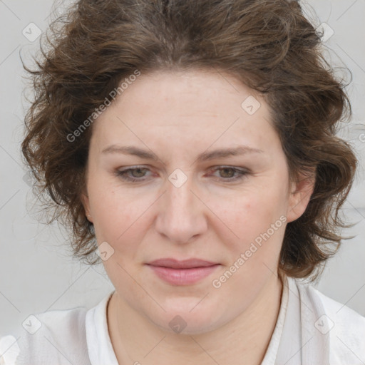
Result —
<instances>
[{"instance_id":1,"label":"woman's whole forehead from brown hairline down to the eyebrows","mask_svg":"<svg viewBox=\"0 0 365 365\"><path fill-rule=\"evenodd\" d=\"M253 111L253 113L252 113ZM93 125L106 143L162 141L205 150L227 145L261 148L275 143L269 108L234 76L215 71L155 72L130 83ZM145 145L143 146L143 141Z\"/></svg>"}]
</instances>

